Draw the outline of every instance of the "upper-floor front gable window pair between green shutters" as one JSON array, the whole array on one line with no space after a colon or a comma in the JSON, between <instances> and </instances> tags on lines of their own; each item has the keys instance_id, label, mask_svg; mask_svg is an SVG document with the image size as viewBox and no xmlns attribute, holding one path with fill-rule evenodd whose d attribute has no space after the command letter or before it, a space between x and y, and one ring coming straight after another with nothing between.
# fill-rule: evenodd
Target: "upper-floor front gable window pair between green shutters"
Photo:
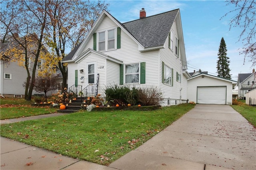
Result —
<instances>
[{"instance_id":1,"label":"upper-floor front gable window pair between green shutters","mask_svg":"<svg viewBox=\"0 0 256 170\"><path fill-rule=\"evenodd\" d=\"M115 49L115 29L106 30L98 33L98 50L105 51L109 49Z\"/></svg>"}]
</instances>

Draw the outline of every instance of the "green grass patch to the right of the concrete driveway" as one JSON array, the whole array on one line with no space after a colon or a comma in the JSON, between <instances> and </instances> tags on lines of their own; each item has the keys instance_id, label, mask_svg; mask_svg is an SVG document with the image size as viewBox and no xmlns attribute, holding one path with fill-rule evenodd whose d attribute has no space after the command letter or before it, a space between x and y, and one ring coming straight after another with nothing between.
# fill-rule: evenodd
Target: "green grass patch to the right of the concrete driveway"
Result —
<instances>
[{"instance_id":1,"label":"green grass patch to the right of the concrete driveway","mask_svg":"<svg viewBox=\"0 0 256 170\"><path fill-rule=\"evenodd\" d=\"M231 105L231 107L256 127L256 107L246 105L244 100L239 101L241 102L239 105Z\"/></svg>"}]
</instances>

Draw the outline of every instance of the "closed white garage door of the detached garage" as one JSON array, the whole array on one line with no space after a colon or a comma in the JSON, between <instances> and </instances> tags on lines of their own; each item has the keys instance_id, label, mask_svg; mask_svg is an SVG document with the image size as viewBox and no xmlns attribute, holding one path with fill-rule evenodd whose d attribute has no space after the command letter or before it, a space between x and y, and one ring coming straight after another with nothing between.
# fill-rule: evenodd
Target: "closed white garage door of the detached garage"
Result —
<instances>
[{"instance_id":1,"label":"closed white garage door of the detached garage","mask_svg":"<svg viewBox=\"0 0 256 170\"><path fill-rule=\"evenodd\" d=\"M197 103L226 104L226 86L197 87Z\"/></svg>"}]
</instances>

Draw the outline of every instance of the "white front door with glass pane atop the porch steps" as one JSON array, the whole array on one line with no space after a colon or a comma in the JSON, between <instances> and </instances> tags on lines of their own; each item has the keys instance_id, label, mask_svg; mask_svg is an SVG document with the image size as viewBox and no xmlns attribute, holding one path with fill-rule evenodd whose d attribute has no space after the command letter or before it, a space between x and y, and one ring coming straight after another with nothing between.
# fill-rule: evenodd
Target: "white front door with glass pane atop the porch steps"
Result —
<instances>
[{"instance_id":1,"label":"white front door with glass pane atop the porch steps","mask_svg":"<svg viewBox=\"0 0 256 170\"><path fill-rule=\"evenodd\" d=\"M96 62L86 64L86 92L89 96L94 96L96 93Z\"/></svg>"}]
</instances>

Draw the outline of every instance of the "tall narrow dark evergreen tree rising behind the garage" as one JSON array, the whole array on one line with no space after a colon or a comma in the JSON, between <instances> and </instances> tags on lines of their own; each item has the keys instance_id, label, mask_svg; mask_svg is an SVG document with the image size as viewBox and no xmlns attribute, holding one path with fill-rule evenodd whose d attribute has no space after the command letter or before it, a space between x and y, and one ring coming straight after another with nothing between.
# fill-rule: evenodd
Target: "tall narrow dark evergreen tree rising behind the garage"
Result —
<instances>
[{"instance_id":1,"label":"tall narrow dark evergreen tree rising behind the garage","mask_svg":"<svg viewBox=\"0 0 256 170\"><path fill-rule=\"evenodd\" d=\"M230 69L229 69L229 57L227 57L227 48L224 38L220 40L220 47L218 52L217 61L217 73L218 77L223 77L226 79L231 79Z\"/></svg>"}]
</instances>

